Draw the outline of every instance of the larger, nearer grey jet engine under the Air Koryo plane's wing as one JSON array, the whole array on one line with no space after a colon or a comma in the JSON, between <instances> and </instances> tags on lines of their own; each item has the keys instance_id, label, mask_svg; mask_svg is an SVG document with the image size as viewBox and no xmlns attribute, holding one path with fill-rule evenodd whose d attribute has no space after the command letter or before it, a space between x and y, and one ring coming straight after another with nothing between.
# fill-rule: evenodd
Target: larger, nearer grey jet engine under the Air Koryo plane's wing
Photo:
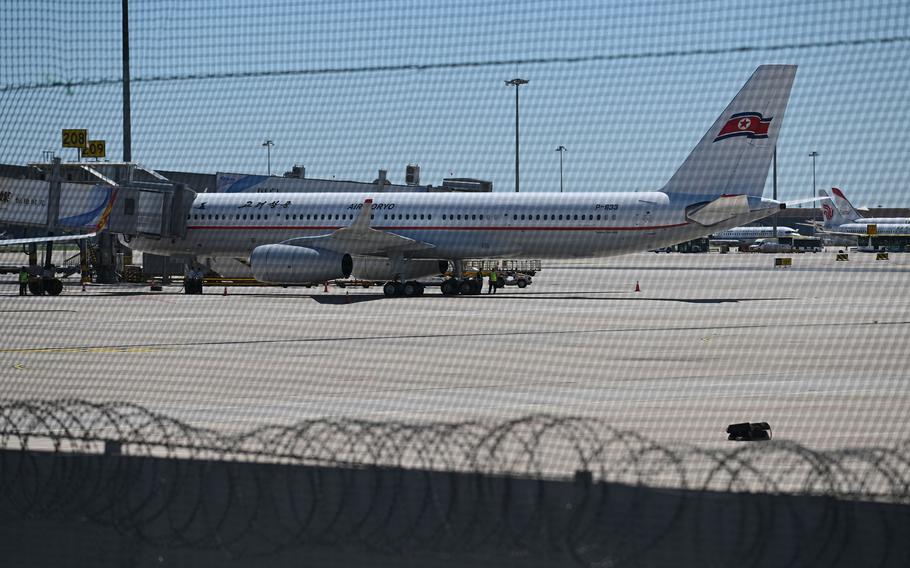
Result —
<instances>
[{"instance_id":1,"label":"larger, nearer grey jet engine under the Air Koryo plane's wing","mask_svg":"<svg viewBox=\"0 0 910 568\"><path fill-rule=\"evenodd\" d=\"M349 254L292 245L262 245L253 249L253 277L272 284L309 284L351 275Z\"/></svg>"}]
</instances>

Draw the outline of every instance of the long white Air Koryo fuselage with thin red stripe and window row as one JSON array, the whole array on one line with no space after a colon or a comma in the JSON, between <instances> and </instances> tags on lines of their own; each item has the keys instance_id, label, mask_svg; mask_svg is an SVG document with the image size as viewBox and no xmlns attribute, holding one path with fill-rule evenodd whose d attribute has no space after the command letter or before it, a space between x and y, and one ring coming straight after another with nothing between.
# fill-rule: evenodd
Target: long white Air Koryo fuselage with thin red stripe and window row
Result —
<instances>
[{"instance_id":1,"label":"long white Air Koryo fuselage with thin red stripe and window row","mask_svg":"<svg viewBox=\"0 0 910 568\"><path fill-rule=\"evenodd\" d=\"M247 257L257 246L319 236L350 225L372 198L370 227L432 248L410 258L613 256L683 242L768 216L738 215L706 228L683 200L635 193L270 193L200 194L182 239L135 237L152 253Z\"/></svg>"}]
</instances>

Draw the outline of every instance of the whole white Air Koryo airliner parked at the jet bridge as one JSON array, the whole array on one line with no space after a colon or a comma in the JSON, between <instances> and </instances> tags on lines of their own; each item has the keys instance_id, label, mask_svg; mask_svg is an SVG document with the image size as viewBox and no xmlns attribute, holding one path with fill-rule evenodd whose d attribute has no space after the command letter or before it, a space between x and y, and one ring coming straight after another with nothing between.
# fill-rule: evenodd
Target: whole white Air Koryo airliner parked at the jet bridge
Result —
<instances>
[{"instance_id":1,"label":"whole white Air Koryo airliner parked at the jet bridge","mask_svg":"<svg viewBox=\"0 0 910 568\"><path fill-rule=\"evenodd\" d=\"M785 208L761 195L795 75L795 65L758 67L658 191L206 193L195 197L184 238L122 239L135 250L192 263L242 259L257 280L275 284L352 274L385 280L386 295L420 294L416 280L452 261L457 277L445 280L442 292L478 293L476 280L461 277L461 259L647 251ZM655 119L673 121L674 130L682 120L672 110Z\"/></svg>"}]
</instances>

